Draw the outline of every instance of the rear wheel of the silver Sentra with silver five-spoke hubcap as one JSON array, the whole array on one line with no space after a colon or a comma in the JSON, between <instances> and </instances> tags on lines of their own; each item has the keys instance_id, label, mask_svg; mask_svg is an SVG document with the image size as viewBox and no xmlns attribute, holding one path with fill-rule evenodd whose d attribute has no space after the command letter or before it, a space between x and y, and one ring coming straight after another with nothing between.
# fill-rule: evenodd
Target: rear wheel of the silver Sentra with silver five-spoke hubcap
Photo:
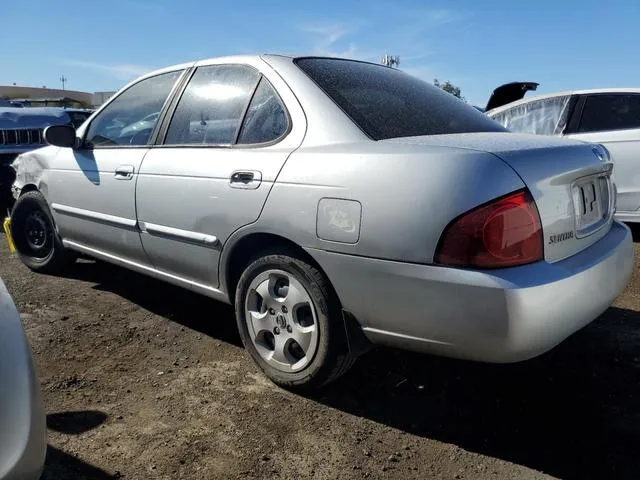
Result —
<instances>
[{"instance_id":1,"label":"rear wheel of the silver Sentra with silver five-spoke hubcap","mask_svg":"<svg viewBox=\"0 0 640 480\"><path fill-rule=\"evenodd\" d=\"M315 388L353 364L341 309L317 268L289 254L265 254L238 282L238 330L262 371L287 388Z\"/></svg>"}]
</instances>

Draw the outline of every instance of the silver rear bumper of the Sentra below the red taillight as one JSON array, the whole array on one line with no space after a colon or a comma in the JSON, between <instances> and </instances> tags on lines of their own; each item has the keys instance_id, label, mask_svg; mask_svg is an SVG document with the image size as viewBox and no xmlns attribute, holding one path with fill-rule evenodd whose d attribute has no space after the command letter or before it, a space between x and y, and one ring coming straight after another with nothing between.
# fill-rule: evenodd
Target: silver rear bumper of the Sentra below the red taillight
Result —
<instances>
[{"instance_id":1,"label":"silver rear bumper of the Sentra below the red taillight","mask_svg":"<svg viewBox=\"0 0 640 480\"><path fill-rule=\"evenodd\" d=\"M596 319L633 268L619 222L566 260L491 271L308 252L372 342L496 363L535 357Z\"/></svg>"}]
</instances>

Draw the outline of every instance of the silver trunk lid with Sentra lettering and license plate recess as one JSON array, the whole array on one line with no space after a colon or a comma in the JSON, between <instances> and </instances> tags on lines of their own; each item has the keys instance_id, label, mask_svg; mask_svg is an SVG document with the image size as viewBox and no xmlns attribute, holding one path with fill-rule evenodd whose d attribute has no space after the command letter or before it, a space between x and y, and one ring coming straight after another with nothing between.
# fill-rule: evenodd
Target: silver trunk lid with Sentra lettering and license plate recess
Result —
<instances>
[{"instance_id":1,"label":"silver trunk lid with Sentra lettering and license plate recess","mask_svg":"<svg viewBox=\"0 0 640 480\"><path fill-rule=\"evenodd\" d=\"M544 235L544 255L557 262L589 247L611 229L613 163L594 145L564 138L514 133L467 133L385 140L489 152L522 178L533 196ZM488 179L479 179L481 183ZM505 192L507 193L507 192Z\"/></svg>"}]
</instances>

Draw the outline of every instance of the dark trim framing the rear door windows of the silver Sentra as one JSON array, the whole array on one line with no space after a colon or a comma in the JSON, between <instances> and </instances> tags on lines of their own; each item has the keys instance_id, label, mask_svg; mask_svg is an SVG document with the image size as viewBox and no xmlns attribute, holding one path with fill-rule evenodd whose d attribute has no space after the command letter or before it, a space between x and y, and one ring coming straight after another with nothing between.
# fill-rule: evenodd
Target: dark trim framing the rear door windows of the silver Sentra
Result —
<instances>
[{"instance_id":1,"label":"dark trim framing the rear door windows of the silver Sentra","mask_svg":"<svg viewBox=\"0 0 640 480\"><path fill-rule=\"evenodd\" d=\"M173 120L173 117L174 117L174 115L176 113L176 110L178 109L178 105L180 104L180 100L182 100L182 96L184 95L184 92L186 91L187 87L189 86L189 83L191 82L191 80L192 80L193 76L195 75L196 71L199 68L226 67L226 66L247 67L247 68L250 68L250 69L255 70L256 72L258 72L258 79L257 79L255 85L253 86L253 89L251 91L251 94L249 95L247 103L245 104L245 106L244 106L244 108L242 110L242 116L240 118L240 124L238 125L238 129L236 130L236 133L234 134L233 142L232 143L205 143L205 144L202 144L202 143L165 143L166 140L167 140L167 134L169 133L169 126L171 125L171 121ZM245 121L246 116L247 116L247 112L249 111L249 106L251 105L251 102L253 101L253 97L255 96L256 91L258 90L258 86L260 85L260 82L262 81L262 79L265 79L269 83L269 86L273 89L273 91L275 92L276 96L280 100L280 104L282 105L282 108L284 109L285 116L287 118L287 129L278 138L276 138L274 140L270 140L269 142L237 143L238 142L238 137L240 136L240 132L242 130L242 126L244 125L244 121ZM199 65L197 67L192 67L191 68L191 72L188 75L188 79L185 80L184 83L181 85L180 91L176 92L176 94L173 97L173 101L172 101L171 105L168 106L168 109L167 109L167 111L165 112L165 115L162 118L162 125L161 125L160 129L158 130L158 135L157 135L157 138L155 139L155 143L152 144L151 146L153 148L221 148L221 149L265 148L265 147L270 147L272 145L275 145L277 143L282 142L289 135L289 133L291 133L292 129L293 129L293 121L292 121L292 118L291 118L291 114L289 113L289 109L287 108L287 104L282 99L282 96L278 92L278 89L273 85L273 83L271 83L269 81L269 79L258 68L254 67L253 65L246 64L246 63L215 63L215 64L210 64L210 65Z\"/></svg>"}]
</instances>

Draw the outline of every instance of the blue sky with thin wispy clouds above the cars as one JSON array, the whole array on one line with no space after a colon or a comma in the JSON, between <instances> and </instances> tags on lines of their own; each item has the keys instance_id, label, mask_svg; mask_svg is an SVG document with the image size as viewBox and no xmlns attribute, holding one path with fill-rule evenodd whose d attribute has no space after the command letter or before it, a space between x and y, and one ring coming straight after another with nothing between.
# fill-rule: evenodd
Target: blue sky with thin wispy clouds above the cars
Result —
<instances>
[{"instance_id":1,"label":"blue sky with thin wispy clouds above the cars","mask_svg":"<svg viewBox=\"0 0 640 480\"><path fill-rule=\"evenodd\" d=\"M540 92L640 86L637 0L3 2L0 84L116 90L150 69L236 53L325 54L450 80L484 105L497 85Z\"/></svg>"}]
</instances>

